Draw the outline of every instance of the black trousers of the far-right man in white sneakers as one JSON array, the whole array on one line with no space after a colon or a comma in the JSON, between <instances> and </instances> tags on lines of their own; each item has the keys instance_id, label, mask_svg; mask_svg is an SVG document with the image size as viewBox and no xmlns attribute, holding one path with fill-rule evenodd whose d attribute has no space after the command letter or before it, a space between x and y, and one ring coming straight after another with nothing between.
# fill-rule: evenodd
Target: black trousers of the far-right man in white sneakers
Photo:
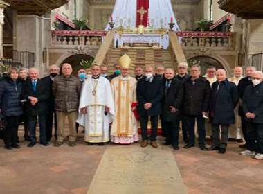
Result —
<instances>
[{"instance_id":1,"label":"black trousers of the far-right man in white sneakers","mask_svg":"<svg viewBox=\"0 0 263 194\"><path fill-rule=\"evenodd\" d=\"M246 123L247 149L263 154L263 123Z\"/></svg>"}]
</instances>

